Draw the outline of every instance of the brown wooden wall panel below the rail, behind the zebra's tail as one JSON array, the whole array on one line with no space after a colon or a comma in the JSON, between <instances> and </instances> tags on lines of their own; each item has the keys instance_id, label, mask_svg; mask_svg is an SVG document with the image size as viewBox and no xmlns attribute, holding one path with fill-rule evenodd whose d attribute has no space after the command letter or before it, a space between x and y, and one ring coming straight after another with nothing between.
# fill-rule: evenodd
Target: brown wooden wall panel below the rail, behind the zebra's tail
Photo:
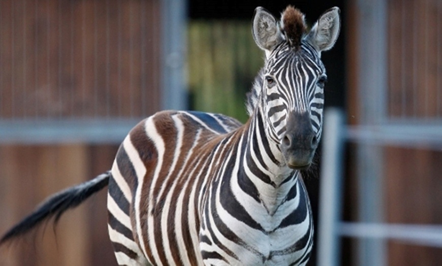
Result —
<instances>
[{"instance_id":1,"label":"brown wooden wall panel below the rail, behind the zebra's tail","mask_svg":"<svg viewBox=\"0 0 442 266\"><path fill-rule=\"evenodd\" d=\"M79 144L0 147L0 231L29 214L47 196L110 169L117 146ZM68 211L56 227L0 251L0 265L115 265L107 236L107 191Z\"/></svg>"}]
</instances>

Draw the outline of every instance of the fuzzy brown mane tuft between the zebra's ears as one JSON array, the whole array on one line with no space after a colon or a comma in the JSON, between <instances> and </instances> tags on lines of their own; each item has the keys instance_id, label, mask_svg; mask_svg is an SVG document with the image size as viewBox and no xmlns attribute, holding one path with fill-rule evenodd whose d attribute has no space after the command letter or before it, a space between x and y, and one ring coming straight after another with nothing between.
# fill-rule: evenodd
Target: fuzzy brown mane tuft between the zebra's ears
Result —
<instances>
[{"instance_id":1,"label":"fuzzy brown mane tuft between the zebra's ears","mask_svg":"<svg viewBox=\"0 0 442 266\"><path fill-rule=\"evenodd\" d=\"M288 6L281 17L282 30L286 35L287 41L295 49L301 47L301 39L307 30L304 22L304 14L293 6Z\"/></svg>"}]
</instances>

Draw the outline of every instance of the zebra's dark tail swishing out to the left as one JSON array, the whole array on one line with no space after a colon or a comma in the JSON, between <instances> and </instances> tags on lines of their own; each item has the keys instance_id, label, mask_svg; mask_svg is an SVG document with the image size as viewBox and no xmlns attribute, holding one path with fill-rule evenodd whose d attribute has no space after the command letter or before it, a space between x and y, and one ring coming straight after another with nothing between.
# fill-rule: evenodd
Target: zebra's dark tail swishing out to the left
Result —
<instances>
[{"instance_id":1,"label":"zebra's dark tail swishing out to the left","mask_svg":"<svg viewBox=\"0 0 442 266\"><path fill-rule=\"evenodd\" d=\"M0 240L0 244L26 234L41 222L54 217L56 223L60 216L70 208L75 208L92 194L102 190L109 183L111 172L105 172L96 178L62 190L48 197L37 209L9 229Z\"/></svg>"}]
</instances>

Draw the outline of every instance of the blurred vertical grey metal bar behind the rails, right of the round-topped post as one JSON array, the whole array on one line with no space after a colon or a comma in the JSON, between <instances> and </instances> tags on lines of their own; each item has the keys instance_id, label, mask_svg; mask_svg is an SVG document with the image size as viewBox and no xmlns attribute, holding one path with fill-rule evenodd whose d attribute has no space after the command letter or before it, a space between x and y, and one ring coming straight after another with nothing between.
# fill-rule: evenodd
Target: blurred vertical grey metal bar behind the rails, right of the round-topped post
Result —
<instances>
[{"instance_id":1,"label":"blurred vertical grey metal bar behind the rails, right of the round-topped post","mask_svg":"<svg viewBox=\"0 0 442 266\"><path fill-rule=\"evenodd\" d=\"M358 51L360 123L380 125L387 121L387 1L358 1ZM359 219L383 221L382 148L360 144L357 151ZM386 263L383 240L358 242L359 266L382 266Z\"/></svg>"}]
</instances>

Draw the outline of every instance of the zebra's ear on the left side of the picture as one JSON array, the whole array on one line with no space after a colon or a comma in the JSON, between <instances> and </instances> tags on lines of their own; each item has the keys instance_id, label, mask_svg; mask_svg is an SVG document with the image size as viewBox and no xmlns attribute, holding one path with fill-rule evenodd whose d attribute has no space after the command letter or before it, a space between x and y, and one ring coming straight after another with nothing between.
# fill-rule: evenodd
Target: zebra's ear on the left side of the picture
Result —
<instances>
[{"instance_id":1,"label":"zebra's ear on the left side of the picture","mask_svg":"<svg viewBox=\"0 0 442 266\"><path fill-rule=\"evenodd\" d=\"M255 9L252 34L256 44L266 51L266 54L283 41L276 18L262 7Z\"/></svg>"}]
</instances>

